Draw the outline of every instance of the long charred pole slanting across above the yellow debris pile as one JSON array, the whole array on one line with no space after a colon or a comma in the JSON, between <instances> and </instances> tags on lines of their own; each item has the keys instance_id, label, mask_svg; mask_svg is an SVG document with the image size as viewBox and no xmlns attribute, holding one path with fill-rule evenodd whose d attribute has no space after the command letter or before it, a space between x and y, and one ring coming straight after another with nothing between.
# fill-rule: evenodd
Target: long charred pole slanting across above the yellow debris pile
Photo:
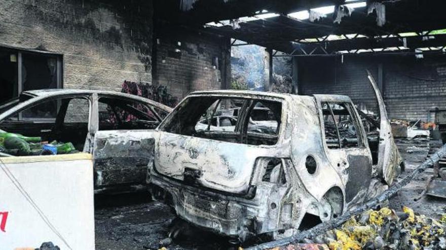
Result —
<instances>
[{"instance_id":1,"label":"long charred pole slanting across above the yellow debris pile","mask_svg":"<svg viewBox=\"0 0 446 250\"><path fill-rule=\"evenodd\" d=\"M443 157L446 157L446 145L443 145L435 154L433 154L429 159L424 161L420 166L418 166L413 172L411 172L406 177L404 177L401 181L399 181L398 183L395 183L394 185L389 187L389 189L385 190L383 193L381 193L377 197L369 199L369 201L367 201L362 206L359 206L351 211L346 212L339 218L321 223L312 229L300 232L300 233L292 235L290 237L263 243L263 244L258 244L256 246L249 247L246 249L259 250L259 249L274 248L277 246L284 246L284 245L287 245L287 244L290 244L293 242L300 242L300 241L304 240L305 238L313 238L317 235L325 233L326 231L328 231L330 229L339 227L344 222L349 220L352 216L358 215L366 210L373 209L374 207L387 201L387 199L389 199L389 197L392 197L393 195L395 195L396 192L398 192L402 187L404 187L409 182L411 182L415 176L417 176L419 173L425 171L426 168L434 166Z\"/></svg>"}]
</instances>

